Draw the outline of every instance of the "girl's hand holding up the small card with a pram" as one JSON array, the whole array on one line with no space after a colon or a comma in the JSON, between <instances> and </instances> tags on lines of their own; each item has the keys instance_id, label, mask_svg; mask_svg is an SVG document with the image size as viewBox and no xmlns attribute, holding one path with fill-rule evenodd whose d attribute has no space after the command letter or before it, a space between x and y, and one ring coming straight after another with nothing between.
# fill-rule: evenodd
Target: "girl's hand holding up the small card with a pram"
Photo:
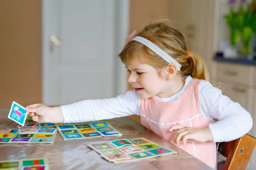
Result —
<instances>
[{"instance_id":1,"label":"girl's hand holding up the small card with a pram","mask_svg":"<svg viewBox=\"0 0 256 170\"><path fill-rule=\"evenodd\" d=\"M26 108L32 120L38 123L62 123L64 117L60 107L48 107L41 103L29 105Z\"/></svg>"}]
</instances>

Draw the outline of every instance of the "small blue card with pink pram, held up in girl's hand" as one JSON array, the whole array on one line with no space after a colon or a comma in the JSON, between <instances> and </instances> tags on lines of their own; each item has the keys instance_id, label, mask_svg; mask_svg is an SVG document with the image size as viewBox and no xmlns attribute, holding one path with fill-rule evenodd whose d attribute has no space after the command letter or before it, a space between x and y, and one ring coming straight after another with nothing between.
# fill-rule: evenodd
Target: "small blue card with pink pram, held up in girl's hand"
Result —
<instances>
[{"instance_id":1,"label":"small blue card with pink pram, held up in girl's hand","mask_svg":"<svg viewBox=\"0 0 256 170\"><path fill-rule=\"evenodd\" d=\"M28 112L25 110L25 108L22 105L18 104L15 101L12 102L12 107L8 115L9 119L24 126L27 115L28 115Z\"/></svg>"}]
</instances>

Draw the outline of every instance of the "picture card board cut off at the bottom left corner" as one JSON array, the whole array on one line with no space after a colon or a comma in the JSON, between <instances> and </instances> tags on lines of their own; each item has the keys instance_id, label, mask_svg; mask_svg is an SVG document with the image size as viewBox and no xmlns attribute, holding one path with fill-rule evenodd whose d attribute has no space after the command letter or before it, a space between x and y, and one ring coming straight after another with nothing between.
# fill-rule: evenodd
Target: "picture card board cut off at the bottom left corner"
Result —
<instances>
[{"instance_id":1,"label":"picture card board cut off at the bottom left corner","mask_svg":"<svg viewBox=\"0 0 256 170\"><path fill-rule=\"evenodd\" d=\"M49 170L48 159L20 159L0 161L1 170Z\"/></svg>"}]
</instances>

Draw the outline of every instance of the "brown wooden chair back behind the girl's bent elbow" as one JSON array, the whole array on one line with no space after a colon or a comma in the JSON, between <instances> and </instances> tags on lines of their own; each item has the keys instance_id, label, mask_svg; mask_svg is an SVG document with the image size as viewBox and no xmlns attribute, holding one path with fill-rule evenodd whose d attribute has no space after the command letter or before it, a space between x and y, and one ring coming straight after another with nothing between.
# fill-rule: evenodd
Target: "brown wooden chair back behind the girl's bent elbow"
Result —
<instances>
[{"instance_id":1,"label":"brown wooden chair back behind the girl's bent elbow","mask_svg":"<svg viewBox=\"0 0 256 170\"><path fill-rule=\"evenodd\" d=\"M246 170L255 145L256 138L248 134L230 142L220 143L218 151L227 160L222 166L219 164L218 170Z\"/></svg>"}]
</instances>

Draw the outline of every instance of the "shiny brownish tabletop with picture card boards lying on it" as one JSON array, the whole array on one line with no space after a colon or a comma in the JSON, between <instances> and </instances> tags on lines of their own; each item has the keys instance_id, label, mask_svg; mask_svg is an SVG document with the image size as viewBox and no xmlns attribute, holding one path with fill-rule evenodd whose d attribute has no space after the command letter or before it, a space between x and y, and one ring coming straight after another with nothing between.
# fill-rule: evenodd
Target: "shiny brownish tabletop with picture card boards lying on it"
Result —
<instances>
[{"instance_id":1,"label":"shiny brownish tabletop with picture card boards lying on it","mask_svg":"<svg viewBox=\"0 0 256 170\"><path fill-rule=\"evenodd\" d=\"M8 114L9 109L0 108L0 129L17 127L17 123L7 118ZM0 144L0 160L48 158L50 170L213 170L207 164L127 117L105 121L119 130L123 136L64 141L57 132L53 144ZM92 142L109 142L115 139L140 137L176 150L177 153L141 161L113 164L87 146Z\"/></svg>"}]
</instances>

